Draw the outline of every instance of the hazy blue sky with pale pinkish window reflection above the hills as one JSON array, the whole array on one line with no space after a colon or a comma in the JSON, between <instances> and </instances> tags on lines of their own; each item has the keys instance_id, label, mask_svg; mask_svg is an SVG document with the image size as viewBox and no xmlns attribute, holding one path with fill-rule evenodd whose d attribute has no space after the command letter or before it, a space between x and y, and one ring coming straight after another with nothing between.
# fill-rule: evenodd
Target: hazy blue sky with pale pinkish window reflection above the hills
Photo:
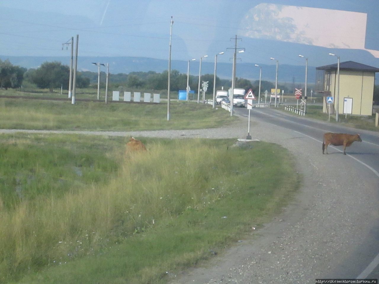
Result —
<instances>
[{"instance_id":1,"label":"hazy blue sky with pale pinkish window reflection above the hills","mask_svg":"<svg viewBox=\"0 0 379 284\"><path fill-rule=\"evenodd\" d=\"M2 0L0 55L132 56L310 66L337 58L379 67L379 0ZM62 50L63 47L63 50ZM239 49L241 50L241 49Z\"/></svg>"}]
</instances>

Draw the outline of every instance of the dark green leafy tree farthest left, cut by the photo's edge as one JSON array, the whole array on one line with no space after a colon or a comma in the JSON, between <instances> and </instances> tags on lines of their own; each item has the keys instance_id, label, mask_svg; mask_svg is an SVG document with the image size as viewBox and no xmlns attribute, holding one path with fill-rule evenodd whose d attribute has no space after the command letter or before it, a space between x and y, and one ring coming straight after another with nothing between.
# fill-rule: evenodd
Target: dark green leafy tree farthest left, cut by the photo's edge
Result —
<instances>
[{"instance_id":1,"label":"dark green leafy tree farthest left, cut by the photo's edge","mask_svg":"<svg viewBox=\"0 0 379 284\"><path fill-rule=\"evenodd\" d=\"M2 61L0 59L0 87L17 88L20 87L23 80L23 74L26 69L20 66L14 66L9 60Z\"/></svg>"}]
</instances>

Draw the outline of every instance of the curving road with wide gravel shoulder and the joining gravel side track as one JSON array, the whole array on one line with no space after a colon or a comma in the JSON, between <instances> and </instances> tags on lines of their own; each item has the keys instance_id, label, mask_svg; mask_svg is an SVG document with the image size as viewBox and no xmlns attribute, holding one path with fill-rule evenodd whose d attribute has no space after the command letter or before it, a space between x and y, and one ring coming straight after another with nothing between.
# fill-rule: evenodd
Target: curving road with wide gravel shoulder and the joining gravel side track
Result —
<instances>
[{"instance_id":1,"label":"curving road with wide gravel shoulder and the joining gravel side track","mask_svg":"<svg viewBox=\"0 0 379 284\"><path fill-rule=\"evenodd\" d=\"M235 109L241 123L222 129L63 133L108 136L245 138L247 110ZM45 133L48 131L3 130ZM379 135L360 131L362 143L321 150L324 132L356 133L293 117L274 109L251 111L250 134L287 148L303 178L295 200L251 237L179 275L170 283L315 283L316 278L378 278ZM61 131L53 131L61 133ZM254 157L252 157L254 159ZM275 173L273 173L275 174ZM256 224L252 223L252 226Z\"/></svg>"}]
</instances>

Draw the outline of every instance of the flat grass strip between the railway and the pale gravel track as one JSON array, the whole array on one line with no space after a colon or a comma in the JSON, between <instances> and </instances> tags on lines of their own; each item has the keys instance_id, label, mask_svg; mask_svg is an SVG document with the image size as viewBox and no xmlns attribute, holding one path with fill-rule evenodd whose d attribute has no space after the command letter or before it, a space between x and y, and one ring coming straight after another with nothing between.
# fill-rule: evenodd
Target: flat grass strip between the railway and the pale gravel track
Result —
<instances>
[{"instance_id":1,"label":"flat grass strip between the railway and the pale gravel track","mask_svg":"<svg viewBox=\"0 0 379 284\"><path fill-rule=\"evenodd\" d=\"M0 98L0 128L31 130L134 131L215 128L236 121L222 108L186 101L100 103Z\"/></svg>"}]
</instances>

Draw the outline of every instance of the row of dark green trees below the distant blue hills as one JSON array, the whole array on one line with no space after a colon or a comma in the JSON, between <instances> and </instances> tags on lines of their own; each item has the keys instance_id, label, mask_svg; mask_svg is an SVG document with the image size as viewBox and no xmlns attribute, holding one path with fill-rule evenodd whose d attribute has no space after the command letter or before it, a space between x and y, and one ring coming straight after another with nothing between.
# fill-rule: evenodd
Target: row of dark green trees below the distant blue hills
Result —
<instances>
[{"instance_id":1,"label":"row of dark green trees below the distant blue hills","mask_svg":"<svg viewBox=\"0 0 379 284\"><path fill-rule=\"evenodd\" d=\"M0 87L19 88L22 86L23 80L26 80L36 87L41 89L61 88L67 90L69 86L69 66L63 65L61 62L44 62L36 69L29 69L14 66L9 60L0 60ZM78 88L94 87L97 88L97 72L77 72L76 86ZM105 72L100 72L100 87L105 87ZM127 87L130 89L150 89L156 91L166 91L168 89L168 71L165 70L161 73L154 71L149 72L130 72L128 74L118 73L111 74L109 77L110 88L117 89L119 86ZM201 76L200 81L208 81L207 94L213 93L213 74L204 74ZM170 77L171 91L185 90L187 86L187 74L182 74L178 70L171 71ZM197 92L199 76L189 76L189 87L191 90ZM200 82L201 83L201 82ZM221 79L216 76L216 90L229 89L232 81L229 79ZM200 86L201 87L201 86ZM258 94L259 80L254 82L244 79L236 78L235 87L242 88L246 91L252 89L254 94ZM261 81L261 92L265 90L270 91L274 89L275 85L269 81ZM278 89L284 89L284 86L278 84ZM376 88L377 89L377 88Z\"/></svg>"}]
</instances>

